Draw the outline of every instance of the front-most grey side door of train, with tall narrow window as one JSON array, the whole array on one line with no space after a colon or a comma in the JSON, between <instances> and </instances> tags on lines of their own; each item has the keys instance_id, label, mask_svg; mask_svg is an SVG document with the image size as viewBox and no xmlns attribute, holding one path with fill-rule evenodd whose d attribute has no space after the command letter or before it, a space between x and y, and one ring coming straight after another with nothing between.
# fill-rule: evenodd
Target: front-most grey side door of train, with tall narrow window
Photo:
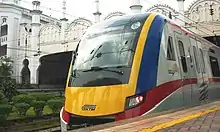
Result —
<instances>
[{"instance_id":1,"label":"front-most grey side door of train, with tall narrow window","mask_svg":"<svg viewBox=\"0 0 220 132\"><path fill-rule=\"evenodd\" d=\"M174 32L175 34L175 43L177 49L178 62L180 67L181 74L181 85L182 85L182 94L183 94L183 105L189 105L191 102L191 85L187 84L190 81L190 73L189 73L189 61L188 61L188 48L190 47L189 41L187 41L187 36L185 36L182 32Z\"/></svg>"}]
</instances>

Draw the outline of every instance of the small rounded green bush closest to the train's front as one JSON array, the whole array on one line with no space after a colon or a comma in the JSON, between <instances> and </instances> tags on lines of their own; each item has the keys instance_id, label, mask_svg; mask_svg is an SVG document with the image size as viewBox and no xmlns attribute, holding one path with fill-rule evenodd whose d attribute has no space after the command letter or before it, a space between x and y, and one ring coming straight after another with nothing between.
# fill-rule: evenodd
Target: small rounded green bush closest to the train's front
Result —
<instances>
[{"instance_id":1,"label":"small rounded green bush closest to the train's front","mask_svg":"<svg viewBox=\"0 0 220 132\"><path fill-rule=\"evenodd\" d=\"M59 110L63 106L63 101L51 99L47 102L47 105L53 110L53 113L56 113L59 112Z\"/></svg>"}]
</instances>

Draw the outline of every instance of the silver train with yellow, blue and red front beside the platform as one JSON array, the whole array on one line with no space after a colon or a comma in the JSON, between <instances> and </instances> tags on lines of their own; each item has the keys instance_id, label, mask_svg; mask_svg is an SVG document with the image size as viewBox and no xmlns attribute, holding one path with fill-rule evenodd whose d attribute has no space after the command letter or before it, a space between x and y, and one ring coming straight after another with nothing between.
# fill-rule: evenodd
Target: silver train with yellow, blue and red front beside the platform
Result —
<instances>
[{"instance_id":1,"label":"silver train with yellow, blue and red front beside the platform","mask_svg":"<svg viewBox=\"0 0 220 132\"><path fill-rule=\"evenodd\" d=\"M161 14L94 24L73 53L61 124L71 129L218 100L219 61L218 46Z\"/></svg>"}]
</instances>

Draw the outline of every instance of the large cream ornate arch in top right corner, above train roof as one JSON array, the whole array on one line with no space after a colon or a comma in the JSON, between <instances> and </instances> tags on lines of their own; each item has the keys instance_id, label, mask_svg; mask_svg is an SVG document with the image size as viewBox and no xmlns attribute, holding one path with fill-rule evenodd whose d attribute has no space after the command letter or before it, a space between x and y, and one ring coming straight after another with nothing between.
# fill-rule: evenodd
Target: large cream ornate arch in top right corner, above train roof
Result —
<instances>
[{"instance_id":1,"label":"large cream ornate arch in top right corner, above train roof","mask_svg":"<svg viewBox=\"0 0 220 132\"><path fill-rule=\"evenodd\" d=\"M210 14L210 5L213 15ZM189 6L185 15L189 18L186 25L189 30L203 37L220 35L219 0L197 0Z\"/></svg>"}]
</instances>

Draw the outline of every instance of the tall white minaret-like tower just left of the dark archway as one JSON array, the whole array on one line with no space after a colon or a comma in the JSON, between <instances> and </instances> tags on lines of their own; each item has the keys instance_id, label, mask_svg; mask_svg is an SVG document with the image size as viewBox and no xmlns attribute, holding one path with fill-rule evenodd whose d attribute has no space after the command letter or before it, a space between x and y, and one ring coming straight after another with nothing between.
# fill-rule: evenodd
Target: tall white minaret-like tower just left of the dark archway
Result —
<instances>
[{"instance_id":1,"label":"tall white minaret-like tower just left of the dark archway","mask_svg":"<svg viewBox=\"0 0 220 132\"><path fill-rule=\"evenodd\" d=\"M39 31L40 31L40 14L42 11L40 11L40 1L33 1L33 10L32 13L32 23L31 23L31 46L30 49L33 51L30 53L30 71L31 71L31 84L37 84L37 68L39 66L39 54L37 51L39 51Z\"/></svg>"}]
</instances>

